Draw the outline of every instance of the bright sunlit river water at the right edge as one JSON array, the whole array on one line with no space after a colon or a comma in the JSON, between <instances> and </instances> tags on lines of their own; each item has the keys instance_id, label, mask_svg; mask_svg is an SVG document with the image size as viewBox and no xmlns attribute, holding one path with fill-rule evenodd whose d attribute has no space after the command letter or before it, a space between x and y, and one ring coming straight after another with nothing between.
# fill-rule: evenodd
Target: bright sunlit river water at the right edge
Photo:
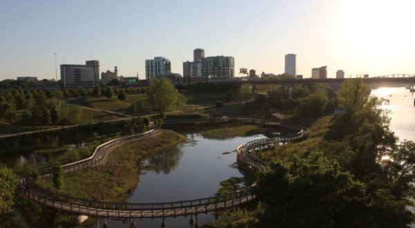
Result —
<instances>
[{"instance_id":1,"label":"bright sunlit river water at the right edge","mask_svg":"<svg viewBox=\"0 0 415 228\"><path fill-rule=\"evenodd\" d=\"M399 140L415 141L415 106L414 93L405 87L385 87L371 91L371 95L389 99L389 104L383 108L390 111L390 129Z\"/></svg>"}]
</instances>

